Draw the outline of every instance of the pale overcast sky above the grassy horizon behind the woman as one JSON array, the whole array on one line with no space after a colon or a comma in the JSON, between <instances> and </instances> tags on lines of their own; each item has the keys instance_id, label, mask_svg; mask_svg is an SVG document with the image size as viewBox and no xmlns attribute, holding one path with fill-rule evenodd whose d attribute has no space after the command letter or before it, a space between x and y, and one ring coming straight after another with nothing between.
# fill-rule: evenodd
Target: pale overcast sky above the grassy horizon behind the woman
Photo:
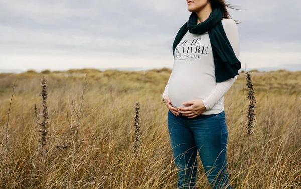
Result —
<instances>
[{"instance_id":1,"label":"pale overcast sky above the grassy horizon behind the woman","mask_svg":"<svg viewBox=\"0 0 301 189\"><path fill-rule=\"evenodd\" d=\"M300 67L299 0L228 0L242 69ZM0 0L0 69L161 68L186 0Z\"/></svg>"}]
</instances>

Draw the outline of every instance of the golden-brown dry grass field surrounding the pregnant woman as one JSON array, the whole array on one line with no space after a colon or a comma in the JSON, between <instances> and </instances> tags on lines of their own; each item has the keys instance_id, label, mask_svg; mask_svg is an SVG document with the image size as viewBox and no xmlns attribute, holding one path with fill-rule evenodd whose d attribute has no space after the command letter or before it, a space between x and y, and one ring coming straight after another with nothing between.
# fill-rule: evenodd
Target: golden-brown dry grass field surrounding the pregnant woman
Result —
<instances>
[{"instance_id":1,"label":"golden-brown dry grass field surrounding the pregnant woman","mask_svg":"<svg viewBox=\"0 0 301 189\"><path fill-rule=\"evenodd\" d=\"M0 74L0 188L42 188L37 146L43 76L50 136L45 188L176 188L168 109L161 98L170 73L163 68ZM232 188L301 188L301 72L250 74L257 101L250 145L246 74L225 95ZM136 159L135 102L142 145ZM197 188L210 188L200 157L198 166Z\"/></svg>"}]
</instances>

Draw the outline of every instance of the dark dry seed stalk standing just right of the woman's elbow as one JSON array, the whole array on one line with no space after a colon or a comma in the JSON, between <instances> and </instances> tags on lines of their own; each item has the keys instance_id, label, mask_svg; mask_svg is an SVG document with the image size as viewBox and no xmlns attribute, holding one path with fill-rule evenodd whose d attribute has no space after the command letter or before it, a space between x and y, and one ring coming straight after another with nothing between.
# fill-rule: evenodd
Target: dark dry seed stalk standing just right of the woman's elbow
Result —
<instances>
[{"instance_id":1,"label":"dark dry seed stalk standing just right of the woman's elbow","mask_svg":"<svg viewBox=\"0 0 301 189\"><path fill-rule=\"evenodd\" d=\"M255 91L253 88L253 83L252 83L252 78L250 73L247 71L246 72L246 80L247 80L247 86L248 86L248 97L247 99L249 100L249 109L247 113L247 122L248 124L246 125L246 129L248 131L248 149L249 149L249 154L248 154L248 167L250 165L250 158L251 158L251 150L250 150L250 136L251 134L254 133L254 124L255 124Z\"/></svg>"}]
</instances>

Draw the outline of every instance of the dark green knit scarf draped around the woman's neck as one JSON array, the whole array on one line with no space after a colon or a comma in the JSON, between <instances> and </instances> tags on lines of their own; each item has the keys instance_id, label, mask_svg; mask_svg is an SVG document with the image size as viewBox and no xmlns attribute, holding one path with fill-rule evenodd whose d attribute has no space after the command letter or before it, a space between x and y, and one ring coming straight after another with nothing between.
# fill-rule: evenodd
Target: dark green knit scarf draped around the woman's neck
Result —
<instances>
[{"instance_id":1,"label":"dark green knit scarf draped around the woman's neck","mask_svg":"<svg viewBox=\"0 0 301 189\"><path fill-rule=\"evenodd\" d=\"M226 36L222 25L223 13L220 8L215 8L209 17L197 24L197 14L192 12L188 21L180 28L173 43L173 54L183 36L190 33L203 34L208 32L215 66L216 82L223 82L238 75L241 63L235 56L233 48Z\"/></svg>"}]
</instances>

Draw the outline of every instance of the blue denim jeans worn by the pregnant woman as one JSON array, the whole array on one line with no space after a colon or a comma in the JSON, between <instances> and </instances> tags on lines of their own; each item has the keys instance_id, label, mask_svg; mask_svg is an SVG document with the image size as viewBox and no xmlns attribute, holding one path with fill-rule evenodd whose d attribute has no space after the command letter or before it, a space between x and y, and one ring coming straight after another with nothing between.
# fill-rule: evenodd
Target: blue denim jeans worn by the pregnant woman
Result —
<instances>
[{"instance_id":1,"label":"blue denim jeans worn by the pregnant woman","mask_svg":"<svg viewBox=\"0 0 301 189\"><path fill-rule=\"evenodd\" d=\"M194 118L176 116L168 111L167 123L177 166L178 188L195 188L197 153L211 187L231 188L227 185L228 130L225 111L212 115L201 114Z\"/></svg>"}]
</instances>

